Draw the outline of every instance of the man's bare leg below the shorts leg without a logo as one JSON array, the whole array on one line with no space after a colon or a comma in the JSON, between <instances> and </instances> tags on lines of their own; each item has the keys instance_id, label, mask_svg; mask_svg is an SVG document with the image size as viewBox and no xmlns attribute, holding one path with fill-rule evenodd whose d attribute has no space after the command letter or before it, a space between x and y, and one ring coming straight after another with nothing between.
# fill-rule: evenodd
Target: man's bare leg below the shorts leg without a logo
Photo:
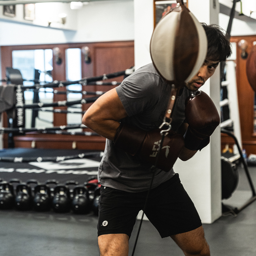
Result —
<instances>
[{"instance_id":1,"label":"man's bare leg below the shorts leg without a logo","mask_svg":"<svg viewBox=\"0 0 256 256\"><path fill-rule=\"evenodd\" d=\"M186 256L210 256L209 245L204 238L202 226L186 233L172 235L171 238Z\"/></svg>"}]
</instances>

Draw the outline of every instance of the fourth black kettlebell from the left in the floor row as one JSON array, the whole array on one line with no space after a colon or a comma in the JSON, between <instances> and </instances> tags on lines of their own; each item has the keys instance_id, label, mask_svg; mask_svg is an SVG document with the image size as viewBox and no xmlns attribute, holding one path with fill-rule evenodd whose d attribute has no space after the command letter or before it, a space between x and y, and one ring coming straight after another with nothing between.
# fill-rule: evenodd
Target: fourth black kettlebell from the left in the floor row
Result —
<instances>
[{"instance_id":1,"label":"fourth black kettlebell from the left in the floor row","mask_svg":"<svg viewBox=\"0 0 256 256\"><path fill-rule=\"evenodd\" d=\"M71 200L69 197L69 189L65 185L57 185L54 188L54 198L52 208L55 212L65 213L70 211Z\"/></svg>"}]
</instances>

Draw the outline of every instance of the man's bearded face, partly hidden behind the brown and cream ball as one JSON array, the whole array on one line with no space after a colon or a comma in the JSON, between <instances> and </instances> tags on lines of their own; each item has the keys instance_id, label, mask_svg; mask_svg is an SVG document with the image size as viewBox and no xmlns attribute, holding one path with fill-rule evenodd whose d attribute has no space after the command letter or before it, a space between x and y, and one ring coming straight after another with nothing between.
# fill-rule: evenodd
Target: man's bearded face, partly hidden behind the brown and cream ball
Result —
<instances>
[{"instance_id":1,"label":"man's bearded face, partly hidden behind the brown and cream ball","mask_svg":"<svg viewBox=\"0 0 256 256\"><path fill-rule=\"evenodd\" d=\"M214 74L218 64L219 61L206 59L197 74L186 83L186 88L189 91L197 91Z\"/></svg>"}]
</instances>

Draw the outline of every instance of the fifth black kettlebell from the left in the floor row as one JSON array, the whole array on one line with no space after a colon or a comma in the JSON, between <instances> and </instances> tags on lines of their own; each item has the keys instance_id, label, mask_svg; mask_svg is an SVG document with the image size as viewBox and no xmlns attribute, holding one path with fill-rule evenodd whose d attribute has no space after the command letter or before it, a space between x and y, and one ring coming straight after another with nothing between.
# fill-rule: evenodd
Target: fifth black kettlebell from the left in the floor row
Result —
<instances>
[{"instance_id":1,"label":"fifth black kettlebell from the left in the floor row","mask_svg":"<svg viewBox=\"0 0 256 256\"><path fill-rule=\"evenodd\" d=\"M71 207L73 212L77 214L86 214L91 211L89 193L85 186L76 186L74 188L74 198Z\"/></svg>"}]
</instances>

